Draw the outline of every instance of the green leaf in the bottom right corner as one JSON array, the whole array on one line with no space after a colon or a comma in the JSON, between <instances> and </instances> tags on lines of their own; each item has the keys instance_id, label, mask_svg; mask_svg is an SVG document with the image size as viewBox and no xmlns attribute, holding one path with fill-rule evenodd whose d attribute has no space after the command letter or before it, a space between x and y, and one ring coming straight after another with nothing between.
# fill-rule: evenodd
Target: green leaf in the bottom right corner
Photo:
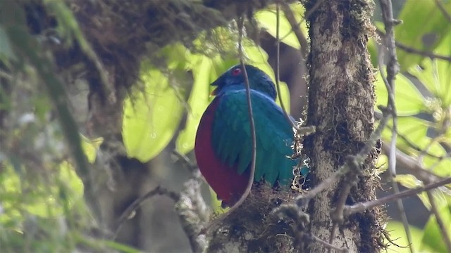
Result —
<instances>
[{"instance_id":1,"label":"green leaf in the bottom right corner","mask_svg":"<svg viewBox=\"0 0 451 253\"><path fill-rule=\"evenodd\" d=\"M451 233L451 207L445 206L438 213L440 214L440 218L443 219L449 235ZM441 233L437 220L433 215L429 218L428 223L426 223L423 239L421 240L421 249L425 248L431 249L432 252L447 252L447 247L443 240L443 233Z\"/></svg>"}]
</instances>

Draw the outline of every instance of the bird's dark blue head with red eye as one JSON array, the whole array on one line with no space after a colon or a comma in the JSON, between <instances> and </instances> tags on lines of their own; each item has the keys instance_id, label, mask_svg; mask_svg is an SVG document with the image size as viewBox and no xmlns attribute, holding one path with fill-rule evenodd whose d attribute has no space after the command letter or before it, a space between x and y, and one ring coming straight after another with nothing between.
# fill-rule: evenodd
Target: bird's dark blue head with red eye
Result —
<instances>
[{"instance_id":1,"label":"bird's dark blue head with red eye","mask_svg":"<svg viewBox=\"0 0 451 253\"><path fill-rule=\"evenodd\" d=\"M271 77L259 70L259 68L252 65L245 65L247 79L249 80L250 89L255 91L260 91L266 96L276 100L276 87L271 80ZM237 91L241 89L246 89L245 75L240 64L230 67L221 77L218 77L215 82L211 84L212 86L218 86L212 94L221 95L226 91Z\"/></svg>"}]
</instances>

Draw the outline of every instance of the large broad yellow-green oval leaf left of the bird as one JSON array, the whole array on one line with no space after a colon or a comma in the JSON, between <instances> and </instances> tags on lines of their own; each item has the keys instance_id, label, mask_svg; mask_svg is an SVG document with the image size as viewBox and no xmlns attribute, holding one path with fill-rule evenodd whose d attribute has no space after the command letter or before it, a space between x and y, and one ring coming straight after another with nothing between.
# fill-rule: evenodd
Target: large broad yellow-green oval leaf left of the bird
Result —
<instances>
[{"instance_id":1,"label":"large broad yellow-green oval leaf left of the bird","mask_svg":"<svg viewBox=\"0 0 451 253\"><path fill-rule=\"evenodd\" d=\"M149 65L141 74L144 91L125 98L122 136L128 157L147 162L166 148L178 129L183 105L168 78Z\"/></svg>"}]
</instances>

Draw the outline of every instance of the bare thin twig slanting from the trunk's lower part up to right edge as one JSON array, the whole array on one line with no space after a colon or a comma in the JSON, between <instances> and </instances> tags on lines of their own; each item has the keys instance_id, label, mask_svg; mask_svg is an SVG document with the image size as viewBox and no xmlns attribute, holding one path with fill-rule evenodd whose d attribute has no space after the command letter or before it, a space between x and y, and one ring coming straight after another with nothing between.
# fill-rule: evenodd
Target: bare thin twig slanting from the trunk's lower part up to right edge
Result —
<instances>
[{"instance_id":1,"label":"bare thin twig slanting from the trunk's lower part up to right edge","mask_svg":"<svg viewBox=\"0 0 451 253\"><path fill-rule=\"evenodd\" d=\"M365 210L371 209L371 208L376 207L378 205L385 205L385 204L387 204L389 202L400 200L400 199L402 199L404 197L412 197L412 196L417 195L419 193L422 193L422 192L424 192L426 190L432 190L432 189L435 189L435 188L439 188L440 186L445 186L445 185L447 185L449 183L451 183L451 177L448 177L446 179L437 181L435 183L429 183L426 186L420 186L420 187L417 187L417 188L414 188L414 189L404 190L404 191L402 191L400 193L395 193L395 194L392 194L392 195L388 195L386 197L381 197L378 200L372 200L372 201L369 201L369 202L360 202L360 203L357 203L355 205L351 205L351 206L345 207L344 214L345 214L345 216L349 216L351 214L356 214L358 212L364 212Z\"/></svg>"}]
</instances>

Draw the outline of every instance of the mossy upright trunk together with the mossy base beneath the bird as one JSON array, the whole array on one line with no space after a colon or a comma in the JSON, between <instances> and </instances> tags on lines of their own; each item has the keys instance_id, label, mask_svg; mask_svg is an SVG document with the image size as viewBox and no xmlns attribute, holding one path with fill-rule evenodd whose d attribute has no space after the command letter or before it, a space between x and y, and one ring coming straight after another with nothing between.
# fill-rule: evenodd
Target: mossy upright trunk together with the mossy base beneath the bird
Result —
<instances>
[{"instance_id":1,"label":"mossy upright trunk together with the mossy base beneath the bird","mask_svg":"<svg viewBox=\"0 0 451 253\"><path fill-rule=\"evenodd\" d=\"M373 34L370 22L373 2L366 0L308 1L304 3L310 24L311 53L309 67L308 126L316 126L316 134L306 138L307 155L311 158L311 186L314 187L345 164L348 155L356 155L373 132L373 67L366 48ZM342 189L354 183L346 204L376 198L378 179L373 176L378 149L373 148L354 181L344 176L310 202L310 223L304 235L314 235L328 242L333 231L331 215L338 205ZM256 201L259 193L230 215L213 234L211 252L326 252L319 242L299 238L293 223L274 222L271 205ZM283 193L281 193L283 194ZM290 202L290 197L273 199ZM273 202L271 202L273 204ZM344 203L343 203L344 204ZM261 207L257 207L257 206ZM273 205L275 207L277 205ZM263 207L267 207L265 209ZM273 208L272 207L272 208ZM249 210L253 209L252 214ZM256 214L261 214L256 216ZM333 235L333 245L349 252L379 252L383 246L381 209L345 217ZM270 232L268 232L270 231ZM275 236L285 235L285 236ZM308 236L307 236L308 237ZM307 238L305 237L305 238Z\"/></svg>"}]
</instances>

